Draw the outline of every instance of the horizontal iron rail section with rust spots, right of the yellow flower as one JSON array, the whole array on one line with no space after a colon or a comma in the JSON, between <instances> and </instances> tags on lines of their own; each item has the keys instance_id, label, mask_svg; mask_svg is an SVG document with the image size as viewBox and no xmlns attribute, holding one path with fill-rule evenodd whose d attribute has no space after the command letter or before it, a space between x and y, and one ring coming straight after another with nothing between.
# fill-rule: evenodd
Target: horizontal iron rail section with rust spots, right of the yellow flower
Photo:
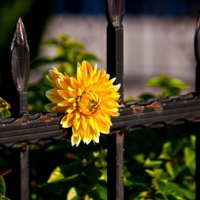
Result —
<instances>
[{"instance_id":1,"label":"horizontal iron rail section with rust spots, right of the yellow flower","mask_svg":"<svg viewBox=\"0 0 200 200\"><path fill-rule=\"evenodd\" d=\"M165 99L129 102L112 122L112 132L200 122L200 96L189 93Z\"/></svg>"}]
</instances>

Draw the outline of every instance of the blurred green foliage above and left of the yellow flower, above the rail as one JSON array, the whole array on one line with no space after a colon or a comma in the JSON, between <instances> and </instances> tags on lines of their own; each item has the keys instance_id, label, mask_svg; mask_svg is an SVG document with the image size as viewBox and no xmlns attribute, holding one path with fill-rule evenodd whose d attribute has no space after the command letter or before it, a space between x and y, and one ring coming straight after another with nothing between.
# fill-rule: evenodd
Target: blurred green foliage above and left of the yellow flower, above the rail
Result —
<instances>
[{"instance_id":1,"label":"blurred green foliage above and left of the yellow flower, above the rail","mask_svg":"<svg viewBox=\"0 0 200 200\"><path fill-rule=\"evenodd\" d=\"M99 61L97 56L86 51L84 45L78 41L70 39L67 35L60 35L58 38L47 39L42 42L42 47L53 47L55 56L39 57L32 61L31 68L43 68L45 65L55 66L59 71L74 76L76 74L77 63L83 60L89 62ZM44 105L49 101L45 92L50 89L50 83L46 79L48 72L45 71L41 79L29 85L29 111L36 113L44 111Z\"/></svg>"}]
</instances>

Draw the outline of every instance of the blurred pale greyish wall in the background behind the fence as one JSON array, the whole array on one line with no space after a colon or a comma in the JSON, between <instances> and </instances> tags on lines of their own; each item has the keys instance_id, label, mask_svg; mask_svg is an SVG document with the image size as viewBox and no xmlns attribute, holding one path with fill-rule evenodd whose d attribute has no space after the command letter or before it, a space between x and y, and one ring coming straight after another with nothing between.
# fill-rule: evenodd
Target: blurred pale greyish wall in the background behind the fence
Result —
<instances>
[{"instance_id":1,"label":"blurred pale greyish wall in the background behind the fence","mask_svg":"<svg viewBox=\"0 0 200 200\"><path fill-rule=\"evenodd\" d=\"M152 91L144 86L148 78L168 74L181 78L194 90L195 18L124 18L124 86L125 97ZM55 16L44 38L61 33L79 40L86 49L101 58L106 66L106 26L103 16ZM41 52L52 54L52 50Z\"/></svg>"}]
</instances>

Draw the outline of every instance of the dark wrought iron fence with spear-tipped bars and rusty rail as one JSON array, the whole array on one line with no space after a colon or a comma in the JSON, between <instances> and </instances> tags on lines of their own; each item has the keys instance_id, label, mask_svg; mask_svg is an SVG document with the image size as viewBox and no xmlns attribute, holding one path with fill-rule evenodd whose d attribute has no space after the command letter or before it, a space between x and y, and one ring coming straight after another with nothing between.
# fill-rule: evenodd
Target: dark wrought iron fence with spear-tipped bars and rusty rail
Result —
<instances>
[{"instance_id":1,"label":"dark wrought iron fence with spear-tipped bars and rusty rail","mask_svg":"<svg viewBox=\"0 0 200 200\"><path fill-rule=\"evenodd\" d=\"M108 135L107 175L108 199L124 199L123 183L123 144L126 130L145 127L163 127L167 124L187 124L199 130L200 122L200 20L195 32L196 91L187 95L165 99L150 99L124 103L123 100L123 17L124 0L106 0L107 26L107 71L116 82L121 84L120 116L113 119L111 134ZM17 23L12 42L12 76L15 91L18 94L13 110L13 118L0 120L0 146L17 149L20 167L18 171L20 191L16 189L16 198L29 199L29 144L47 144L54 140L65 139L59 125L62 115L55 113L28 114L27 83L29 76L29 48L22 20ZM12 83L11 83L12 84ZM196 135L196 185L200 179L200 136ZM134 143L134 141L133 141ZM196 190L196 199L200 191Z\"/></svg>"}]
</instances>

